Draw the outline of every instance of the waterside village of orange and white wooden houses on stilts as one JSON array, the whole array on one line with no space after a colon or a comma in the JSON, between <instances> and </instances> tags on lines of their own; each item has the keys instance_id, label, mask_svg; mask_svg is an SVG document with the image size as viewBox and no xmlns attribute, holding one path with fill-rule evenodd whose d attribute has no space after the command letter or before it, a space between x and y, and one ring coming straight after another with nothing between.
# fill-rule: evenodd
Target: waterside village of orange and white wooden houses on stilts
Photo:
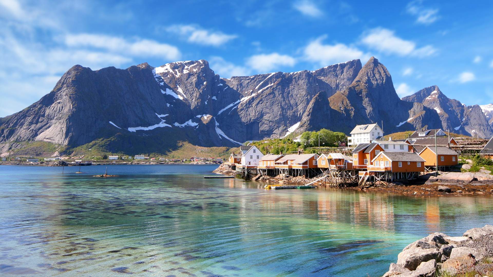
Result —
<instances>
[{"instance_id":1,"label":"waterside village of orange and white wooden houses on stilts","mask_svg":"<svg viewBox=\"0 0 493 277\"><path fill-rule=\"evenodd\" d=\"M300 139L298 136L294 141ZM312 147L315 153L262 153L255 145L241 146L240 152L230 155L216 173L238 173L254 180L298 182L303 186L387 186L413 184L423 177L452 176L468 171L470 158L480 155L491 161L493 142L481 138L452 137L441 129L419 130L406 139L384 139L377 124L357 125L351 132L347 147ZM451 173L450 176L447 173ZM476 176L476 174L478 176ZM493 183L491 171L480 168L469 173L469 182L480 179ZM457 177L457 176L456 176ZM479 177L479 178L478 178ZM291 186L292 187L292 186ZM279 188L278 188L279 189ZM460 193L460 190L459 190Z\"/></svg>"}]
</instances>

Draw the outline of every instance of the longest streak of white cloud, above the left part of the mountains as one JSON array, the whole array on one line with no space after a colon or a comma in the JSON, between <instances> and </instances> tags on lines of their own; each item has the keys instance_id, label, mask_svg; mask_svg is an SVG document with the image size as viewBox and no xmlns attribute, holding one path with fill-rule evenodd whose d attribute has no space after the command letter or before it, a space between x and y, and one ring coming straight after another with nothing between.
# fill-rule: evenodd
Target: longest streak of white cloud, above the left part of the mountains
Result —
<instances>
[{"instance_id":1,"label":"longest streak of white cloud, above the left part of the mountains","mask_svg":"<svg viewBox=\"0 0 493 277\"><path fill-rule=\"evenodd\" d=\"M71 47L102 48L130 56L161 57L166 60L176 60L181 56L180 51L175 46L141 38L129 41L110 35L69 34L65 36L65 44Z\"/></svg>"}]
</instances>

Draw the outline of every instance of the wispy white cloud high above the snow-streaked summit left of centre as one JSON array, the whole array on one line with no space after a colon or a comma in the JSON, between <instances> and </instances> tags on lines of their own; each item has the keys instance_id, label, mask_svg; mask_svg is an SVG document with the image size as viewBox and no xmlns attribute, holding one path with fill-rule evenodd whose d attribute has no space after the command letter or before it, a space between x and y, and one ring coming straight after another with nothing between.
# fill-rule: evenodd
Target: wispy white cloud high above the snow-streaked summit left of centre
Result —
<instances>
[{"instance_id":1,"label":"wispy white cloud high above the snow-streaked summit left of centre","mask_svg":"<svg viewBox=\"0 0 493 277\"><path fill-rule=\"evenodd\" d=\"M166 28L166 31L178 34L186 38L188 42L211 46L220 46L238 37L238 35L205 30L194 25L172 25Z\"/></svg>"}]
</instances>

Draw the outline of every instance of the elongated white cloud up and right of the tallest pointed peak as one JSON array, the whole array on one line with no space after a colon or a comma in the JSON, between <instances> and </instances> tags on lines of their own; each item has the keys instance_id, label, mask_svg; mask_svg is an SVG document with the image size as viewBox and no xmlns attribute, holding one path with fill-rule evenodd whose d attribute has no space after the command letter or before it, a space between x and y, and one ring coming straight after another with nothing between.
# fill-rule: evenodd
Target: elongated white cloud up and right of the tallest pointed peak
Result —
<instances>
[{"instance_id":1,"label":"elongated white cloud up and right of the tallest pointed peak","mask_svg":"<svg viewBox=\"0 0 493 277\"><path fill-rule=\"evenodd\" d=\"M436 52L431 45L417 48L413 41L404 40L394 35L393 31L384 28L370 30L363 35L361 42L378 51L399 56L426 57Z\"/></svg>"}]
</instances>

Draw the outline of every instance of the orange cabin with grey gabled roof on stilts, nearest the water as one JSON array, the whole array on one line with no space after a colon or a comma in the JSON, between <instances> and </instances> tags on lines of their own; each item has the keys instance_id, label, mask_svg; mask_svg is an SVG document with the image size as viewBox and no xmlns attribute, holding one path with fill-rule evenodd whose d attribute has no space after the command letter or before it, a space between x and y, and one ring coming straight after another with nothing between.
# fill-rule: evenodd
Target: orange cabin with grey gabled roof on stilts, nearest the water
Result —
<instances>
[{"instance_id":1,"label":"orange cabin with grey gabled roof on stilts, nearest the water","mask_svg":"<svg viewBox=\"0 0 493 277\"><path fill-rule=\"evenodd\" d=\"M424 172L424 159L411 152L380 152L368 166L369 172Z\"/></svg>"}]
</instances>

